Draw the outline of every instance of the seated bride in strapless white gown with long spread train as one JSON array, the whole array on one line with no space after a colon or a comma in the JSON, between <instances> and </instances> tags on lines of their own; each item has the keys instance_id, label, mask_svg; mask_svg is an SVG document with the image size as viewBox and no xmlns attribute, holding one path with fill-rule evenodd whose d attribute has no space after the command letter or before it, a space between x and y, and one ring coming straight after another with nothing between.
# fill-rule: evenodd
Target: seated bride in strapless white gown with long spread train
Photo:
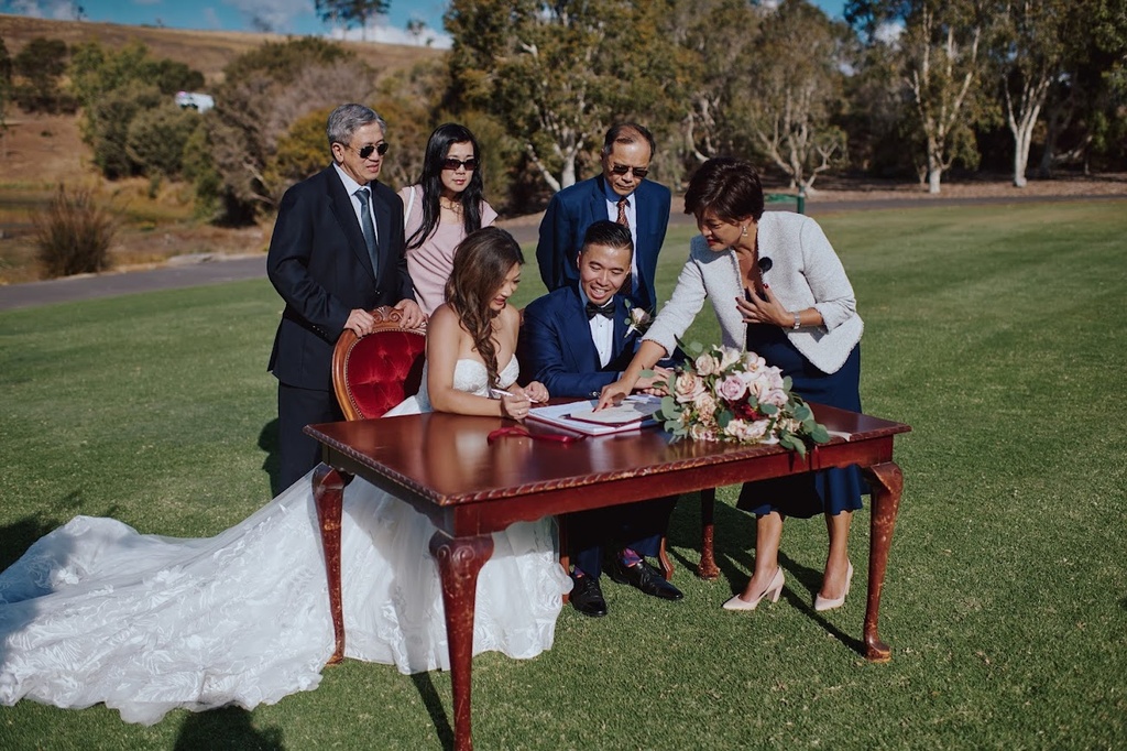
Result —
<instances>
[{"instance_id":1,"label":"seated bride in strapless white gown with long spread train","mask_svg":"<svg viewBox=\"0 0 1127 751\"><path fill-rule=\"evenodd\" d=\"M389 415L431 409L527 415L548 398L516 386L521 248L504 230L470 235L446 303L431 319L423 387ZM490 398L491 389L512 396ZM312 472L310 472L311 475ZM311 690L332 654L310 475L207 539L139 534L77 516L0 574L0 704L105 703L126 722L170 709L247 709ZM345 488L341 574L346 655L400 672L449 666L435 529L362 478ZM570 581L551 520L494 533L481 569L474 654L532 657L551 647Z\"/></svg>"}]
</instances>

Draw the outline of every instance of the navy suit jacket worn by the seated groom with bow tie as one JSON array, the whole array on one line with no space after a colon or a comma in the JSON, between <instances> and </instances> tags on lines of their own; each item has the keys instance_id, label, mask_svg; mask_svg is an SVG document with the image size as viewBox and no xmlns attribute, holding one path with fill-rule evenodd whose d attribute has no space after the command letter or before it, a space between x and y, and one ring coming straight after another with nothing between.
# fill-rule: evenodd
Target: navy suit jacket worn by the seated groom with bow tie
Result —
<instances>
[{"instance_id":1,"label":"navy suit jacket worn by the seated groom with bow tie","mask_svg":"<svg viewBox=\"0 0 1127 751\"><path fill-rule=\"evenodd\" d=\"M637 332L627 334L625 297L615 294L611 359L601 366L575 283L533 300L524 309L517 360L522 376L543 383L550 396L598 396L630 364L638 338Z\"/></svg>"}]
</instances>

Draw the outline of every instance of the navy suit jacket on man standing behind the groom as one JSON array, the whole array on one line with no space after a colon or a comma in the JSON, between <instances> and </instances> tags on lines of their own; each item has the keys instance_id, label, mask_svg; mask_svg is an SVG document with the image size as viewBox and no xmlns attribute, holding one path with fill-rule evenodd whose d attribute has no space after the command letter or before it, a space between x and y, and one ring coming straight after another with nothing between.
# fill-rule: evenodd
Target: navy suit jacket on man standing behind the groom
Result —
<instances>
[{"instance_id":1,"label":"navy suit jacket on man standing behind the groom","mask_svg":"<svg viewBox=\"0 0 1127 751\"><path fill-rule=\"evenodd\" d=\"M603 176L576 183L552 196L548 211L540 222L540 241L536 244L536 264L540 279L549 290L558 290L579 280L576 258L583 247L587 228L606 219L606 193ZM649 180L641 180L635 188L635 214L638 218L638 304L646 310L657 310L654 279L657 275L657 254L665 244L669 224L669 188Z\"/></svg>"}]
</instances>

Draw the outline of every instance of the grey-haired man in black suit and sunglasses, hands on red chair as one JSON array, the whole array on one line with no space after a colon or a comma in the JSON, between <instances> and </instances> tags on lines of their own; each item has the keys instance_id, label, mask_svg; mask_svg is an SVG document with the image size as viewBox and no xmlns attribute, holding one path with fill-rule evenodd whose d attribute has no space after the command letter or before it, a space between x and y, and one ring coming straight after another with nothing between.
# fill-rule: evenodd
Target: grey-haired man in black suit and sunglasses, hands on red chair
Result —
<instances>
[{"instance_id":1,"label":"grey-haired man in black suit and sunglasses, hands on red chair","mask_svg":"<svg viewBox=\"0 0 1127 751\"><path fill-rule=\"evenodd\" d=\"M329 115L332 164L282 197L266 271L285 300L269 370L278 379L279 486L320 461L302 430L344 419L332 392L332 347L344 329L372 330L369 310L394 306L405 326L423 321L403 256L403 207L376 177L388 142L383 120L346 104Z\"/></svg>"}]
</instances>

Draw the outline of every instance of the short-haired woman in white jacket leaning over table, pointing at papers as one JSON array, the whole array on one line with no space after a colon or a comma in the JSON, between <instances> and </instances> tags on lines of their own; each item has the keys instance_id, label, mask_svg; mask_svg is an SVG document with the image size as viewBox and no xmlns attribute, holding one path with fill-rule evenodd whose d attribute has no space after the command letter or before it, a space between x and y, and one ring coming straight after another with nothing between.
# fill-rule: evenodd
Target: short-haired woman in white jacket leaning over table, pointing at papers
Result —
<instances>
[{"instance_id":1,"label":"short-haired woman in white jacket leaning over table, pointing at papers","mask_svg":"<svg viewBox=\"0 0 1127 751\"><path fill-rule=\"evenodd\" d=\"M629 394L642 370L673 352L708 298L726 346L746 347L779 366L806 399L860 412L863 324L853 288L817 222L800 214L764 214L755 168L730 158L701 166L685 194L685 213L696 217L701 235L692 240L673 297L622 378L603 389L600 404ZM829 551L815 609L841 607L853 576L849 528L861 492L857 467L744 485L739 507L756 516L755 571L724 607L754 610L764 597L777 602L784 582L779 566L783 519L819 513Z\"/></svg>"}]
</instances>

